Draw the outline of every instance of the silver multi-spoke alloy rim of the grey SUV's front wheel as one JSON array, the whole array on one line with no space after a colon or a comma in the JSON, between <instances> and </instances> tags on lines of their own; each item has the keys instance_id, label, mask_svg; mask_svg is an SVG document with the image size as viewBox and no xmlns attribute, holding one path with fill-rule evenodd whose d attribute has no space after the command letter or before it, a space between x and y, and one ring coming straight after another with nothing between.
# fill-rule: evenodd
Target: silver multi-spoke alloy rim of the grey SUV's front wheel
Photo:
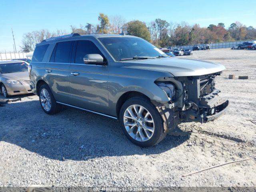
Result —
<instances>
[{"instance_id":1,"label":"silver multi-spoke alloy rim of the grey SUV's front wheel","mask_svg":"<svg viewBox=\"0 0 256 192\"><path fill-rule=\"evenodd\" d=\"M154 120L150 112L141 105L131 105L124 112L124 127L137 141L145 142L154 134Z\"/></svg>"}]
</instances>

